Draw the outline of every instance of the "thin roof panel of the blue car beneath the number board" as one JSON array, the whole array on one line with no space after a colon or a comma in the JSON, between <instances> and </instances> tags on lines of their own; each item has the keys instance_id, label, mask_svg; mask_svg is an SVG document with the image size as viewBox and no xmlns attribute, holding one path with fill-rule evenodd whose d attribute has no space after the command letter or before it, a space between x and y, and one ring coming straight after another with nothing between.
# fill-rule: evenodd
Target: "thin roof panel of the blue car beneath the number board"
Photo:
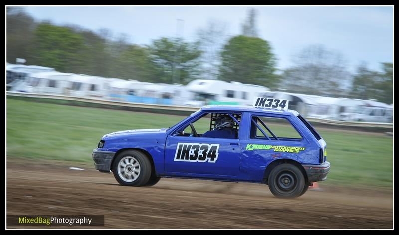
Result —
<instances>
[{"instance_id":1,"label":"thin roof panel of the blue car beneath the number board","mask_svg":"<svg viewBox=\"0 0 399 235\"><path fill-rule=\"evenodd\" d=\"M220 110L220 111L244 111L244 112L262 112L262 113L273 113L273 114L283 114L283 115L297 115L298 112L295 110L277 110L277 109L262 109L256 108L249 105L206 105L201 108L203 111L212 111L212 110Z\"/></svg>"}]
</instances>

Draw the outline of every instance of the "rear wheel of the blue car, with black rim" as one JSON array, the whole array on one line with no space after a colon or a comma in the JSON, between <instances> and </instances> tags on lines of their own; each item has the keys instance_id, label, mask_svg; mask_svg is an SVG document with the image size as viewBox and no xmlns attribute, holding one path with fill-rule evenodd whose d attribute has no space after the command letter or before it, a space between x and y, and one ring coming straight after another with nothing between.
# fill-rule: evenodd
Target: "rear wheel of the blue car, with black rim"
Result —
<instances>
[{"instance_id":1,"label":"rear wheel of the blue car, with black rim","mask_svg":"<svg viewBox=\"0 0 399 235\"><path fill-rule=\"evenodd\" d=\"M278 198L296 198L305 190L302 171L288 163L276 166L270 172L268 183L271 193Z\"/></svg>"}]
</instances>

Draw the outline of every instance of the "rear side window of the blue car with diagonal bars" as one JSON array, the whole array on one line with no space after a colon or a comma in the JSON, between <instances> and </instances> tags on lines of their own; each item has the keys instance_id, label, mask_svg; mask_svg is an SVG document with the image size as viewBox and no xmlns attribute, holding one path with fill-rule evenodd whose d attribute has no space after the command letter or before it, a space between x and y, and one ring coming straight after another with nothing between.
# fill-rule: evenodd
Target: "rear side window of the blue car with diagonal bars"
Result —
<instances>
[{"instance_id":1,"label":"rear side window of the blue car with diagonal bars","mask_svg":"<svg viewBox=\"0 0 399 235\"><path fill-rule=\"evenodd\" d=\"M286 118L252 116L250 138L301 141L302 136Z\"/></svg>"}]
</instances>

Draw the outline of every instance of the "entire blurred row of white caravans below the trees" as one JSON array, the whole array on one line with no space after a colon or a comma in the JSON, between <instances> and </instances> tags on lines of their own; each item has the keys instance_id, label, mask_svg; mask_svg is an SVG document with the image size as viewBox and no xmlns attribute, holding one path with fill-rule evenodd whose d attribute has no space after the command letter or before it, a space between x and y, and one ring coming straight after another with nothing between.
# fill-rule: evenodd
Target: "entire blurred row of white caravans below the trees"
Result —
<instances>
[{"instance_id":1,"label":"entire blurred row of white caravans below the trees","mask_svg":"<svg viewBox=\"0 0 399 235\"><path fill-rule=\"evenodd\" d=\"M263 86L220 80L197 79L186 86L154 84L61 73L41 66L7 64L7 89L8 79L12 80L9 83L12 85L9 86L11 91L29 93L196 107L212 104L251 105L254 97L262 96L289 100L290 109L304 117L365 122L392 122L393 117L392 105L373 100L273 92Z\"/></svg>"}]
</instances>

